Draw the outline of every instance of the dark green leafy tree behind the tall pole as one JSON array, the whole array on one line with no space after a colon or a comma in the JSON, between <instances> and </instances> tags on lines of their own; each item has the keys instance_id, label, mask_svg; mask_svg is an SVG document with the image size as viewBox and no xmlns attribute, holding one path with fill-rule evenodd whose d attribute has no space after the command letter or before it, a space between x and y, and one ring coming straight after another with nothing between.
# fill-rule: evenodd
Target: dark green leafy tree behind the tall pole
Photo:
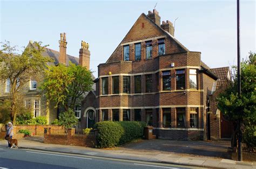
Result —
<instances>
[{"instance_id":1,"label":"dark green leafy tree behind the tall pole","mask_svg":"<svg viewBox=\"0 0 256 169\"><path fill-rule=\"evenodd\" d=\"M248 60L241 63L241 95L237 92L237 67L233 66L233 82L220 93L218 108L237 126L241 120L243 142L248 150L254 151L256 146L256 54L250 52ZM232 147L237 143L238 128L233 132Z\"/></svg>"}]
</instances>

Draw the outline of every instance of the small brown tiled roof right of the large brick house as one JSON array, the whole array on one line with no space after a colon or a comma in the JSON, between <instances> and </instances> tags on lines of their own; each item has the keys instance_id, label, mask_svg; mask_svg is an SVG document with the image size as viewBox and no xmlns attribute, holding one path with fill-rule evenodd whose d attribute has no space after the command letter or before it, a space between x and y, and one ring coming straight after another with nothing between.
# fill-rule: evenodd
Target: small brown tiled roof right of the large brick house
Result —
<instances>
[{"instance_id":1,"label":"small brown tiled roof right of the large brick house","mask_svg":"<svg viewBox=\"0 0 256 169\"><path fill-rule=\"evenodd\" d=\"M218 89L222 84L227 82L230 79L230 67L218 67L211 69L213 73L215 73L219 79L217 80L216 89Z\"/></svg>"}]
</instances>

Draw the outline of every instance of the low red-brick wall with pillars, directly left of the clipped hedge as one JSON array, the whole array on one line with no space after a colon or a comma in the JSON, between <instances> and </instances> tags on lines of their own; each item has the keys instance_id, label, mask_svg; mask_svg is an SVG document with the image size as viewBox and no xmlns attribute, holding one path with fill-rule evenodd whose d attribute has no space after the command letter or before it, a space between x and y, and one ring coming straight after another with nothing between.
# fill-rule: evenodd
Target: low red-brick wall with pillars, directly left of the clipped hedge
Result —
<instances>
[{"instance_id":1,"label":"low red-brick wall with pillars, directly left of the clipped hedge","mask_svg":"<svg viewBox=\"0 0 256 169\"><path fill-rule=\"evenodd\" d=\"M86 135L76 135L75 129L69 129L68 134L51 134L49 130L45 129L44 143L47 144L62 144L74 145L84 147L95 147L96 145L96 132Z\"/></svg>"}]
</instances>

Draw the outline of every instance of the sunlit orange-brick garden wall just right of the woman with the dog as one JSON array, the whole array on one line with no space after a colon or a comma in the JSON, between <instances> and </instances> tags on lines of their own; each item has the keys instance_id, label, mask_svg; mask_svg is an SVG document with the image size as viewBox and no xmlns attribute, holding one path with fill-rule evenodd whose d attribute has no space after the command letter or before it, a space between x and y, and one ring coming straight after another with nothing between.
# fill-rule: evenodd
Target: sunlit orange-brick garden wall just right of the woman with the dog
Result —
<instances>
[{"instance_id":1,"label":"sunlit orange-brick garden wall just right of the woman with the dog","mask_svg":"<svg viewBox=\"0 0 256 169\"><path fill-rule=\"evenodd\" d=\"M36 135L44 134L44 128L51 129L63 129L63 126L58 125L16 125L15 133L18 133L19 130L29 130L31 133Z\"/></svg>"}]
</instances>

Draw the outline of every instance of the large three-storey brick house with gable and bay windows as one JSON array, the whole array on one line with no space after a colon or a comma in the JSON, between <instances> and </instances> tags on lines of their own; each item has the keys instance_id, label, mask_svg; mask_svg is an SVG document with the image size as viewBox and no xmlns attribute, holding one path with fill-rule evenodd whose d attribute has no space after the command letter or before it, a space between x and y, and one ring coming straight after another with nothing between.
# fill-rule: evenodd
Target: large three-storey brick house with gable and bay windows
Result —
<instances>
[{"instance_id":1,"label":"large three-storey brick house with gable and bay windows","mask_svg":"<svg viewBox=\"0 0 256 169\"><path fill-rule=\"evenodd\" d=\"M82 127L97 121L145 121L158 138L206 139L209 97L218 76L176 38L156 9L142 13L82 103ZM217 81L218 82L218 81Z\"/></svg>"}]
</instances>

